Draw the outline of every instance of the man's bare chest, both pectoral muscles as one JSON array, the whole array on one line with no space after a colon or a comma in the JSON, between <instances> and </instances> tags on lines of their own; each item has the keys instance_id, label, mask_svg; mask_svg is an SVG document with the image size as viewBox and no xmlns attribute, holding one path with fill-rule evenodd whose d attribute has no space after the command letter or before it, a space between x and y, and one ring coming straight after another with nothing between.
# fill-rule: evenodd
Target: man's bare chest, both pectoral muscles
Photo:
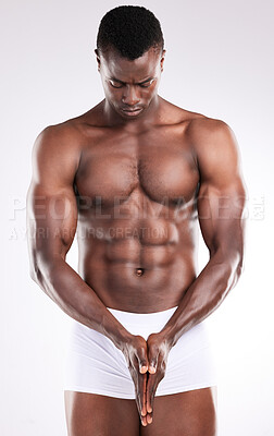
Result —
<instances>
[{"instance_id":1,"label":"man's bare chest, both pectoral muscles","mask_svg":"<svg viewBox=\"0 0 274 436\"><path fill-rule=\"evenodd\" d=\"M158 203L189 201L199 182L190 146L176 137L113 137L87 147L76 184L80 196L111 205L138 189Z\"/></svg>"}]
</instances>

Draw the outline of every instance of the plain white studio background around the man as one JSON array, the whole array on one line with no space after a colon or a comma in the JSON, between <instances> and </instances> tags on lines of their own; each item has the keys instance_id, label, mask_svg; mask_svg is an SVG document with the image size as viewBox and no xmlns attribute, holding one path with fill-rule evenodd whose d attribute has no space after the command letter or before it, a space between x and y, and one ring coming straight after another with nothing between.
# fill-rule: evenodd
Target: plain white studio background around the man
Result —
<instances>
[{"instance_id":1,"label":"plain white studio background around the man","mask_svg":"<svg viewBox=\"0 0 274 436\"><path fill-rule=\"evenodd\" d=\"M126 2L18 0L1 8L0 433L65 435L63 361L70 319L28 275L25 195L30 153L49 124L104 96L94 49L104 13ZM220 436L274 434L273 403L273 4L144 1L162 24L159 94L226 121L248 187L245 271L209 318L219 367ZM68 262L76 267L73 245ZM200 240L200 269L207 251ZM129 435L128 435L129 436Z\"/></svg>"}]
</instances>

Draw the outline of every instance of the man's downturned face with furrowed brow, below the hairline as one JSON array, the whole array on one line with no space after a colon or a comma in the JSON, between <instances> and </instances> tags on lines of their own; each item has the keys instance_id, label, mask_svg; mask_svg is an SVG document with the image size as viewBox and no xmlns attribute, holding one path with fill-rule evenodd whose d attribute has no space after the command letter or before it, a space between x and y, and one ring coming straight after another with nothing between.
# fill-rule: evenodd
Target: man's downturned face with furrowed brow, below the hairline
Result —
<instances>
[{"instance_id":1,"label":"man's downturned face with furrowed brow, below the hairline","mask_svg":"<svg viewBox=\"0 0 274 436\"><path fill-rule=\"evenodd\" d=\"M151 47L133 61L121 57L115 49L100 56L95 52L110 108L126 120L142 117L158 94L165 50L162 53Z\"/></svg>"}]
</instances>

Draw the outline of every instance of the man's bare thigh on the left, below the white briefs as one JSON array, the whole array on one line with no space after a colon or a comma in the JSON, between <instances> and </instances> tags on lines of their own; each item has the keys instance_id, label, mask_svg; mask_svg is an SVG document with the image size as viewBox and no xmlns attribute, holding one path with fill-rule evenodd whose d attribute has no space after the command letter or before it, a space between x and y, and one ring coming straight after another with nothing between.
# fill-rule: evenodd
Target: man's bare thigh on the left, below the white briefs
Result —
<instances>
[{"instance_id":1,"label":"man's bare thigh on the left, below the white briefs","mask_svg":"<svg viewBox=\"0 0 274 436\"><path fill-rule=\"evenodd\" d=\"M139 436L135 400L64 391L68 436Z\"/></svg>"}]
</instances>

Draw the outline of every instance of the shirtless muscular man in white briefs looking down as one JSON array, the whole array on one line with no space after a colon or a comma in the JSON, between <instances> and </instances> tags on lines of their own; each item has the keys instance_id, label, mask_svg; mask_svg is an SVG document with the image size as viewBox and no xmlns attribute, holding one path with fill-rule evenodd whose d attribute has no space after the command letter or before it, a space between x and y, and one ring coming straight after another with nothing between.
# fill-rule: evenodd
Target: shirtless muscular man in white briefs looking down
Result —
<instances>
[{"instance_id":1,"label":"shirtless muscular man in white briefs looking down","mask_svg":"<svg viewBox=\"0 0 274 436\"><path fill-rule=\"evenodd\" d=\"M34 146L30 274L73 318L72 436L216 434L203 320L242 270L246 191L229 126L159 96L163 46L147 9L109 11L95 50L105 98ZM197 277L198 225L210 258ZM77 226L78 274L65 262Z\"/></svg>"}]
</instances>

